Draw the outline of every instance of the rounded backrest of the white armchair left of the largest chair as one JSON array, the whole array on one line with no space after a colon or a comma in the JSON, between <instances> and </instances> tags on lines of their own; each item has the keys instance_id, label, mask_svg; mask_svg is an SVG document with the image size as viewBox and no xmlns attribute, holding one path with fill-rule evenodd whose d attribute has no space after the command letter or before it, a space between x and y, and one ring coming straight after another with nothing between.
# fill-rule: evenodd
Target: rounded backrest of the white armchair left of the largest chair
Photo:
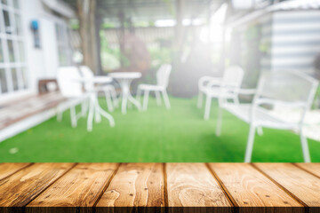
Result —
<instances>
[{"instance_id":1,"label":"rounded backrest of the white armchair left of the largest chair","mask_svg":"<svg viewBox=\"0 0 320 213\"><path fill-rule=\"evenodd\" d=\"M244 79L244 70L241 67L228 67L223 74L222 86L239 89Z\"/></svg>"}]
</instances>

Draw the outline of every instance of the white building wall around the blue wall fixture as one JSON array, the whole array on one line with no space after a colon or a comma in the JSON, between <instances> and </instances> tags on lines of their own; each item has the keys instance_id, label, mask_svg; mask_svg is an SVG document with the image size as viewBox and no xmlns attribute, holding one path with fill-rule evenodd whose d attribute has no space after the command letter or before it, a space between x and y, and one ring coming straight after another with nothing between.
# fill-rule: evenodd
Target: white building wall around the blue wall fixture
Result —
<instances>
[{"instance_id":1,"label":"white building wall around the blue wall fixture","mask_svg":"<svg viewBox=\"0 0 320 213\"><path fill-rule=\"evenodd\" d=\"M51 78L56 75L59 61L55 23L64 23L65 21L52 15L52 12L41 0L21 1L21 10L26 39L29 89L36 93L37 81L40 78ZM39 23L40 48L35 47L34 33L30 28L32 20L38 20Z\"/></svg>"}]
</instances>

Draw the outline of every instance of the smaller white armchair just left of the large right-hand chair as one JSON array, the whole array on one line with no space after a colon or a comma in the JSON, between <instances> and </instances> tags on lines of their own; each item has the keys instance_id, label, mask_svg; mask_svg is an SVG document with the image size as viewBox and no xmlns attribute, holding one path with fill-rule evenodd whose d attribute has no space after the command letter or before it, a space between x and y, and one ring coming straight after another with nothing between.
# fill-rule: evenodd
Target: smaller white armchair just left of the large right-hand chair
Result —
<instances>
[{"instance_id":1,"label":"smaller white armchair just left of the large right-hand chair","mask_svg":"<svg viewBox=\"0 0 320 213\"><path fill-rule=\"evenodd\" d=\"M210 117L212 99L232 99L238 103L238 91L244 78L244 70L241 67L228 67L222 78L205 76L199 80L198 106L202 105L205 95L204 120ZM204 84L206 82L206 84ZM219 101L220 107L220 101ZM220 114L219 114L220 116Z\"/></svg>"}]
</instances>

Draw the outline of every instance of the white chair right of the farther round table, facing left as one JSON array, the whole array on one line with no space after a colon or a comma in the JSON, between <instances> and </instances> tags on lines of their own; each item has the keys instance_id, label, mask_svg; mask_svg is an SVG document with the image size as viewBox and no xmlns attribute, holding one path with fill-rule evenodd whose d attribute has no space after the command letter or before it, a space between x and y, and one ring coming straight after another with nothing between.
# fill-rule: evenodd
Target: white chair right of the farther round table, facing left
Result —
<instances>
[{"instance_id":1,"label":"white chair right of the farther round table, facing left","mask_svg":"<svg viewBox=\"0 0 320 213\"><path fill-rule=\"evenodd\" d=\"M163 94L164 97L164 105L166 108L170 109L170 101L167 94L167 87L169 84L169 76L172 71L172 66L169 64L162 65L156 71L156 85L154 84L140 84L137 90L137 98L140 99L142 91L144 91L143 97L143 110L147 110L148 107L148 95L150 91L155 91L156 94L156 104L159 106L161 105L161 96L160 92Z\"/></svg>"}]
</instances>

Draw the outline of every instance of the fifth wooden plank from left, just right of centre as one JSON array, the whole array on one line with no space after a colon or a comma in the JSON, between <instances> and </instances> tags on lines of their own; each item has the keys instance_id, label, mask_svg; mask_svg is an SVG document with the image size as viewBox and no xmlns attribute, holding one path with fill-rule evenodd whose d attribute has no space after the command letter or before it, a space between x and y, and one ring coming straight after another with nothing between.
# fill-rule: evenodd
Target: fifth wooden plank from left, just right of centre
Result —
<instances>
[{"instance_id":1,"label":"fifth wooden plank from left, just right of centre","mask_svg":"<svg viewBox=\"0 0 320 213\"><path fill-rule=\"evenodd\" d=\"M169 212L231 212L231 204L204 163L167 163Z\"/></svg>"}]
</instances>

